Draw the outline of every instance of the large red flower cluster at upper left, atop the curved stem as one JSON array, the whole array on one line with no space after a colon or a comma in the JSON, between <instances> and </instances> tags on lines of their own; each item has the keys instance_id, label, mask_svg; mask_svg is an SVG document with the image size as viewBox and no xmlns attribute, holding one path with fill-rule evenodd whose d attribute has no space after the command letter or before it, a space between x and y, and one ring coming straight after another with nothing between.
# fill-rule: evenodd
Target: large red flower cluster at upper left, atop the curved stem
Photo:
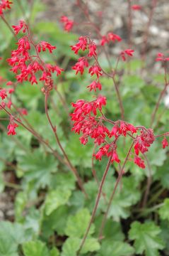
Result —
<instances>
[{"instance_id":1,"label":"large red flower cluster at upper left, atop the curved stem","mask_svg":"<svg viewBox=\"0 0 169 256\"><path fill-rule=\"evenodd\" d=\"M41 51L46 50L52 53L56 49L56 46L52 46L50 43L41 41L40 43L33 43L33 38L30 36L30 31L28 26L24 21L20 21L18 26L13 26L15 33L23 30L25 36L18 40L18 48L13 50L11 53L11 58L8 58L8 64L13 68L11 70L16 74L16 79L18 82L29 81L33 85L37 84L37 74L38 80L44 81L45 86L52 90L53 81L52 73L56 73L57 76L63 71L57 65L51 65L44 63L40 58ZM32 55L32 49L35 50L35 55Z\"/></svg>"}]
</instances>

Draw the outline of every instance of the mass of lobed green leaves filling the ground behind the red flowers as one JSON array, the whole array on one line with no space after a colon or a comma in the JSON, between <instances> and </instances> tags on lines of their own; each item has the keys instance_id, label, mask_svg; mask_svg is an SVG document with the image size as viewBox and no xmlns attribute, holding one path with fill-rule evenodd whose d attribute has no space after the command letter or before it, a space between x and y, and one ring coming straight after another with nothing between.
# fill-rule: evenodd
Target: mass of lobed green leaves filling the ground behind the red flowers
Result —
<instances>
[{"instance_id":1,"label":"mass of lobed green leaves filling the ground behind the red flowers","mask_svg":"<svg viewBox=\"0 0 169 256\"><path fill-rule=\"evenodd\" d=\"M23 5L24 15L19 2ZM89 139L87 145L82 145L78 134L71 132L72 124L69 118L71 102L78 99L93 100L93 94L86 90L86 86L93 78L88 75L88 70L83 76L74 75L71 67L84 54L80 50L78 56L74 55L69 47L76 43L78 35L62 31L57 19L48 21L44 15L46 9L47 6L40 0L13 1L13 8L6 11L5 16L12 25L26 17L36 43L47 41L57 46L53 55L42 54L42 60L57 63L66 70L59 78L53 76L57 91L52 90L49 93L49 117L56 126L57 135L71 164L76 167L83 180L88 196L86 198L78 187L72 171L52 153L52 150L57 151L62 160L66 161L47 122L44 95L41 92L43 84L38 82L38 85L31 86L30 82L26 81L17 85L15 93L11 95L12 101L16 107L25 107L28 110L24 123L40 134L40 137L34 137L21 125L17 128L16 137L8 137L8 120L6 114L0 112L0 217L3 215L2 218L6 219L0 223L1 256L76 256L91 220L98 194L99 185L91 171L93 142ZM0 77L16 82L6 62L6 58L10 58L11 50L16 49L16 41L1 18L0 27L0 57L3 57L0 61ZM98 61L103 69L110 73L105 56L100 55ZM115 56L110 57L110 63L114 68ZM125 63L120 61L115 80L122 96L125 121L131 122L134 126L144 125L148 128L159 94L163 90L164 77L160 73L153 75L152 80L145 77L142 73L143 65L142 60L134 58ZM103 85L101 94L107 97L103 113L113 121L121 119L112 78L103 75L100 82ZM155 134L168 131L168 110L164 112L163 107L161 100L156 114L158 122L153 126ZM9 111L18 118L14 107ZM108 126L112 128L112 124ZM43 139L46 145L40 143L40 139ZM121 166L131 142L131 138L120 138L117 142ZM47 145L51 146L52 150ZM140 169L133 161L127 161L124 176L107 213L103 238L98 239L107 203L115 188L117 172L120 170L117 163L110 166L103 186L105 197L100 197L95 219L80 255L169 255L169 158L168 149L163 150L161 147L161 138L153 143L146 156L151 170L147 167L144 170ZM133 151L129 159L132 157ZM103 157L101 162L94 159L93 164L100 183L107 159ZM150 173L150 191L146 206L142 208ZM7 214L8 210L3 208L4 195L7 195L11 208L14 209L11 217ZM7 206L8 200L5 198L4 204Z\"/></svg>"}]
</instances>

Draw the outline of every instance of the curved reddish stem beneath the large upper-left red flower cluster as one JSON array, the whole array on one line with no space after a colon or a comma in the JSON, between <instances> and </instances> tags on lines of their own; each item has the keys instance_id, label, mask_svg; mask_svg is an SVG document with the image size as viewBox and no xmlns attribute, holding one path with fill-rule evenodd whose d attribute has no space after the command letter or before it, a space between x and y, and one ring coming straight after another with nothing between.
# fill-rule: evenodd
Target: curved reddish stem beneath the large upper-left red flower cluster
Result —
<instances>
[{"instance_id":1,"label":"curved reddish stem beneath the large upper-left red flower cluster","mask_svg":"<svg viewBox=\"0 0 169 256\"><path fill-rule=\"evenodd\" d=\"M56 138L57 140L57 144L59 146L59 148L61 149L62 153L64 154L64 157L67 161L67 163L69 164L69 167L71 169L71 171L73 172L74 176L76 176L76 179L78 181L78 186L81 188L81 191L83 191L83 193L85 194L85 196L87 197L87 194L86 194L86 191L85 189L83 188L83 183L81 181L81 178L80 176L78 176L78 172L76 171L76 169L74 168L74 166L71 164L71 161L69 160L69 157L67 156L66 152L64 151L64 148L62 147L62 144L60 143L59 141L59 137L57 135L57 129L56 127L54 127L54 125L52 124L52 121L49 117L49 113L48 113L48 108L47 108L47 99L48 99L48 96L49 96L49 92L46 92L45 93L45 113L47 115L47 119L48 119L48 122L49 122L49 125L50 127L52 128L52 131L54 133L54 137Z\"/></svg>"}]
</instances>

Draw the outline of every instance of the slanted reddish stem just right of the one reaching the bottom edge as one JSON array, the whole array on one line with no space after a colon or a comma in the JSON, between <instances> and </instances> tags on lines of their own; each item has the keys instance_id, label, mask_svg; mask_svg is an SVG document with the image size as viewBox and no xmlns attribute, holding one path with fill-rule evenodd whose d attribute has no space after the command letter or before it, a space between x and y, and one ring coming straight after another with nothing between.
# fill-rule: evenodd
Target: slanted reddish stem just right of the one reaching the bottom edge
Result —
<instances>
[{"instance_id":1,"label":"slanted reddish stem just right of the one reaching the bottom edge","mask_svg":"<svg viewBox=\"0 0 169 256\"><path fill-rule=\"evenodd\" d=\"M103 229L104 229L104 227L105 227L105 222L106 222L106 219L107 219L107 214L108 214L108 212L109 212L109 210L110 210L110 206L111 206L111 204L112 204L112 199L114 198L114 196L115 196L115 191L117 190L117 186L118 186L118 184L120 183L120 181L121 181L121 179L122 179L122 175L123 175L123 172L124 172L124 166L125 166L125 164L127 163L127 159L128 159L128 157L129 157L130 152L132 151L132 147L133 147L133 146L134 146L134 142L132 142L132 145L131 145L130 148L129 148L129 151L128 151L128 153L127 153L127 156L126 156L126 158L125 158L125 160L124 160L124 163L123 163L123 165L122 165L122 168L121 168L121 170L120 170L120 172L119 172L117 181L116 181L116 183L115 183L115 187L114 187L114 189L113 189L113 191L112 191L112 194L111 194L111 196L110 196L110 201L109 201L109 203L108 203L107 210L106 210L106 212L105 212L105 215L104 215L104 217L103 217L103 220L102 220L102 223L101 223L101 226L100 226L100 231L99 231L99 235L98 235L99 239L102 238Z\"/></svg>"}]
</instances>

